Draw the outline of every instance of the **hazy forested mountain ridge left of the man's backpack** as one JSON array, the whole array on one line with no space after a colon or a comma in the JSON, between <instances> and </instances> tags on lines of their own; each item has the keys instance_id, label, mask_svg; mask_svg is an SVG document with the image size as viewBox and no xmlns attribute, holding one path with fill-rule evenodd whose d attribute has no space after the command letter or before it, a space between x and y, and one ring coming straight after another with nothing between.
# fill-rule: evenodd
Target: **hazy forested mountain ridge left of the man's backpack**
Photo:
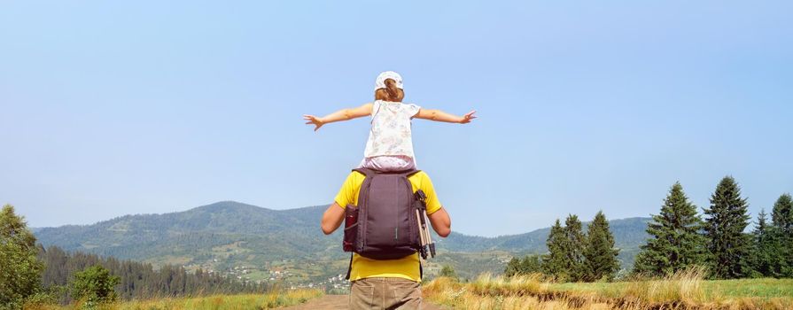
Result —
<instances>
[{"instance_id":1,"label":"hazy forested mountain ridge left of the man's backpack","mask_svg":"<svg viewBox=\"0 0 793 310\"><path fill-rule=\"evenodd\" d=\"M224 201L184 212L125 215L93 225L38 229L35 236L44 246L58 245L66 251L155 263L187 265L217 259L215 254L227 254L222 256L228 259L228 254L240 252L260 260L299 259L337 252L330 248L340 236L323 236L319 229L325 207L276 211ZM222 247L233 251L218 249Z\"/></svg>"}]
</instances>

